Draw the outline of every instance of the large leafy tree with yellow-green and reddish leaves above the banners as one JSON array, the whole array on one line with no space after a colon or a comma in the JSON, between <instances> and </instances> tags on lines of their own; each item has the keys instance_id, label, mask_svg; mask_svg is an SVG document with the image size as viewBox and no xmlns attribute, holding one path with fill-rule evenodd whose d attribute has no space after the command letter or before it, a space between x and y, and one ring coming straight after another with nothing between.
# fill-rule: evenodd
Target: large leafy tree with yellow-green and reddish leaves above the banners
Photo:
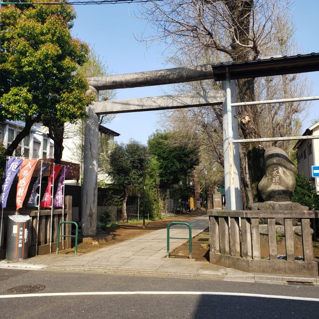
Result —
<instances>
[{"instance_id":1,"label":"large leafy tree with yellow-green and reddish leaves above the banners","mask_svg":"<svg viewBox=\"0 0 319 319\"><path fill-rule=\"evenodd\" d=\"M84 75L76 72L89 49L71 36L75 18L74 8L67 4L2 7L0 118L26 122L7 155L29 135L35 122L43 122L59 162L64 123L84 118L85 108L95 99L85 93Z\"/></svg>"}]
</instances>

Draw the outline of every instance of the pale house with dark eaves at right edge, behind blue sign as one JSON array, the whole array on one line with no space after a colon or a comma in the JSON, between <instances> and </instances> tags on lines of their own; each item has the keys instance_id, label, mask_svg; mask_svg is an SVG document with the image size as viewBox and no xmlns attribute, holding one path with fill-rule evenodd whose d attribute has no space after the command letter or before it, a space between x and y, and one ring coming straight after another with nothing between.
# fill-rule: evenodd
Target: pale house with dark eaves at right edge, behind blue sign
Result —
<instances>
[{"instance_id":1,"label":"pale house with dark eaves at right edge, behind blue sign","mask_svg":"<svg viewBox=\"0 0 319 319\"><path fill-rule=\"evenodd\" d=\"M306 135L319 135L319 122L310 126L304 133ZM293 147L297 151L298 172L310 178L313 183L315 180L311 176L311 166L319 165L319 139L299 140ZM316 178L316 191L319 192L319 178Z\"/></svg>"}]
</instances>

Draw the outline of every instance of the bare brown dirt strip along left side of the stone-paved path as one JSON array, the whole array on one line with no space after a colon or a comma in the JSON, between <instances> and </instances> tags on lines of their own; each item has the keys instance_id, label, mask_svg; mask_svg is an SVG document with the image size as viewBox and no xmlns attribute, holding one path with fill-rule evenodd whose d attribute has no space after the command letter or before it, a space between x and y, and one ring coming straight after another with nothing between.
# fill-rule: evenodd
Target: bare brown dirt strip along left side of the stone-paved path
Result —
<instances>
[{"instance_id":1,"label":"bare brown dirt strip along left side of the stone-paved path","mask_svg":"<svg viewBox=\"0 0 319 319\"><path fill-rule=\"evenodd\" d=\"M206 215L206 211L194 211L190 214L183 214L183 215L174 215L173 217L167 217L165 219L160 220L145 220L145 228L143 228L143 219L137 224L123 224L117 227L109 227L107 228L106 232L110 235L113 235L113 240L107 243L99 243L97 246L93 246L92 243L79 243L78 244L78 254L85 254L96 249L100 249L102 247L110 246L117 244L122 241L129 240L131 238L144 235L146 233L150 233L157 229L166 228L167 225L172 221L187 221L189 219ZM73 247L74 244L72 244ZM59 254L70 254L72 249L66 249Z\"/></svg>"}]
</instances>

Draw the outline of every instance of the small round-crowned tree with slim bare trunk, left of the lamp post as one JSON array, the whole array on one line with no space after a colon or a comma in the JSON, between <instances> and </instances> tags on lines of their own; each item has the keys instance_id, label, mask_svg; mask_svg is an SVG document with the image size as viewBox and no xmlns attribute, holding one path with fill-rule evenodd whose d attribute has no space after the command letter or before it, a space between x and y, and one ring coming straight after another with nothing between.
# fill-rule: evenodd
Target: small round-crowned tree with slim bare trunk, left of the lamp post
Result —
<instances>
[{"instance_id":1,"label":"small round-crowned tree with slim bare trunk, left of the lamp post","mask_svg":"<svg viewBox=\"0 0 319 319\"><path fill-rule=\"evenodd\" d=\"M143 178L143 145L133 139L127 144L116 144L109 155L108 174L123 189L122 220L127 222L129 188L140 185Z\"/></svg>"}]
</instances>

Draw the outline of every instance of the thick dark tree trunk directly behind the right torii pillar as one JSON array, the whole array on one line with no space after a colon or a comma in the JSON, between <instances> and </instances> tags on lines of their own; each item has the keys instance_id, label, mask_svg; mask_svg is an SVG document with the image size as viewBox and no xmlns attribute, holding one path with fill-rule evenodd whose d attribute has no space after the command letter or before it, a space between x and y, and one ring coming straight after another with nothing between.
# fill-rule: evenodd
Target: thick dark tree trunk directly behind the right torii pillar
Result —
<instances>
[{"instance_id":1,"label":"thick dark tree trunk directly behind the right torii pillar","mask_svg":"<svg viewBox=\"0 0 319 319\"><path fill-rule=\"evenodd\" d=\"M235 26L232 47L232 59L234 62L243 62L246 60L255 60L258 58L259 49L256 45L251 48L252 51L247 50L242 45L238 44L238 41L243 45L250 45L249 34L251 26L251 12L254 7L253 0L244 1L231 1L225 2L231 13L232 25ZM235 39L236 36L236 39ZM237 80L237 102L249 102L255 101L255 86L254 79L239 79ZM251 105L247 107L238 107L238 124L241 129L244 138L260 138L259 119L258 119L258 106ZM245 188L245 192L251 192L246 196L248 203L250 204L250 198L253 201L258 200L257 185L263 177L263 154L264 149L259 147L258 143L246 143L246 156L249 169L249 175L247 184L249 188Z\"/></svg>"}]
</instances>

